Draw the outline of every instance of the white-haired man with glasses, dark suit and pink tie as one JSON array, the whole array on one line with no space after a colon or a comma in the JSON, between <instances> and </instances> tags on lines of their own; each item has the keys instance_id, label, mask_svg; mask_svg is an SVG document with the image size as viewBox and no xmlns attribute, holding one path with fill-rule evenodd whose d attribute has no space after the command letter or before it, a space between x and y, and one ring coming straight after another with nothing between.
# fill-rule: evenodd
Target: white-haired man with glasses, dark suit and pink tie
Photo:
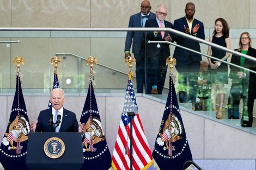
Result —
<instances>
[{"instance_id":1,"label":"white-haired man with glasses, dark suit and pink tie","mask_svg":"<svg viewBox=\"0 0 256 170\"><path fill-rule=\"evenodd\" d=\"M173 24L165 21L167 7L159 5L156 9L156 18L148 20L145 27L173 28ZM162 26L161 26L162 24ZM148 32L147 40L151 41L172 41L169 32ZM148 42L148 41L147 41ZM147 43L147 83L146 94L162 94L164 81L166 79L166 59L170 56L168 43Z\"/></svg>"}]
</instances>

